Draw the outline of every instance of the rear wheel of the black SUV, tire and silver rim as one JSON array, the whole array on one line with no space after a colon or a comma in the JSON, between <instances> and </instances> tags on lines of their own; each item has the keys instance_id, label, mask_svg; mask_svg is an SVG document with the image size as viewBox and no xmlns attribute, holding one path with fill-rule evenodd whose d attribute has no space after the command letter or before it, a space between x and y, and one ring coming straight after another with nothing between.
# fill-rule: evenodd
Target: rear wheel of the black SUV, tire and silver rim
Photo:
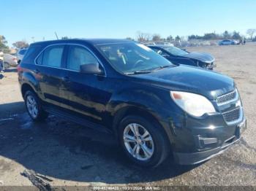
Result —
<instances>
[{"instance_id":1,"label":"rear wheel of the black SUV, tire and silver rim","mask_svg":"<svg viewBox=\"0 0 256 191\"><path fill-rule=\"evenodd\" d=\"M48 113L42 109L41 101L34 92L26 91L24 98L26 110L34 122L43 121L48 117Z\"/></svg>"}]
</instances>

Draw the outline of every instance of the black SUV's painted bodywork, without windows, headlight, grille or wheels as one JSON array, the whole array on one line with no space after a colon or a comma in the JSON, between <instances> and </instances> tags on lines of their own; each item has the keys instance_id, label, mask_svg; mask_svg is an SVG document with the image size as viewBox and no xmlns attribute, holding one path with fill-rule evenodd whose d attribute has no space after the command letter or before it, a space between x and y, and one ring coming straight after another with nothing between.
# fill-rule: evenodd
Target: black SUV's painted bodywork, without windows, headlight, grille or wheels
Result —
<instances>
[{"instance_id":1,"label":"black SUV's painted bodywork, without windows, headlight, grille or wheels","mask_svg":"<svg viewBox=\"0 0 256 191\"><path fill-rule=\"evenodd\" d=\"M155 120L165 130L173 155L181 164L206 160L225 149L228 146L225 143L227 139L234 136L230 142L233 144L240 138L238 124L244 120L244 116L233 125L227 125L222 116L223 112L236 108L236 103L217 106L219 95L235 90L233 79L217 72L184 65L149 74L124 75L113 69L94 46L127 42L115 39L69 39L31 44L31 47L36 47L34 52L18 66L22 93L31 88L46 110L65 112L66 116L88 120L88 126L108 128L115 134L118 122L127 114L141 114L147 120ZM62 69L34 63L39 52L51 44L65 44ZM65 54L70 44L80 44L94 52L104 66L104 74L83 74L65 69ZM192 117L174 103L170 90L204 95L217 112ZM198 136L214 137L218 141L202 146Z\"/></svg>"}]
</instances>

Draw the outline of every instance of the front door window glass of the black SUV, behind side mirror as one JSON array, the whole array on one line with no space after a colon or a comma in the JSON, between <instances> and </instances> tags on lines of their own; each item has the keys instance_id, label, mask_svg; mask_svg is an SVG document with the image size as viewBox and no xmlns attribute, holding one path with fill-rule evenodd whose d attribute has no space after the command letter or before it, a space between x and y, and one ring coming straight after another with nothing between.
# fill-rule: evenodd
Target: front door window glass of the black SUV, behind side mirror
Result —
<instances>
[{"instance_id":1,"label":"front door window glass of the black SUV, behind side mirror","mask_svg":"<svg viewBox=\"0 0 256 191\"><path fill-rule=\"evenodd\" d=\"M70 46L67 57L67 69L80 71L80 66L84 64L97 64L97 59L94 55L80 46Z\"/></svg>"}]
</instances>

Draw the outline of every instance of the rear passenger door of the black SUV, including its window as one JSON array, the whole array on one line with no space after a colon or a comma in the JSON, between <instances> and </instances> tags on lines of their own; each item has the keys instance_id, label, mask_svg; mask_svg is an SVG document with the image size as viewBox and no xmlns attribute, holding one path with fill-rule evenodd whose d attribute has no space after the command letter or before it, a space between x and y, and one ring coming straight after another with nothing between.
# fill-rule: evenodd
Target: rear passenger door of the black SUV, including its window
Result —
<instances>
[{"instance_id":1,"label":"rear passenger door of the black SUV, including its window","mask_svg":"<svg viewBox=\"0 0 256 191\"><path fill-rule=\"evenodd\" d=\"M64 66L64 44L46 47L36 59L36 77L39 81L41 98L56 106L61 105L61 77Z\"/></svg>"}]
</instances>

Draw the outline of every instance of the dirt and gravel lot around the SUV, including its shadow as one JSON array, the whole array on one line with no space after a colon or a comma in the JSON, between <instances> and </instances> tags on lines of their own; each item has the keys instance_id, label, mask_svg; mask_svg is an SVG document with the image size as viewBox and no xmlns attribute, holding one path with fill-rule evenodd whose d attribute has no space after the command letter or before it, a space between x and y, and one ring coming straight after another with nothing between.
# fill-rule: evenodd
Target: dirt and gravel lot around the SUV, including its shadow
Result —
<instances>
[{"instance_id":1,"label":"dirt and gravel lot around the SUV, including its shadow","mask_svg":"<svg viewBox=\"0 0 256 191\"><path fill-rule=\"evenodd\" d=\"M13 70L0 74L0 185L256 186L256 44L189 50L210 52L216 70L236 80L248 120L239 144L200 165L167 160L154 170L139 168L107 134L54 116L45 123L31 122Z\"/></svg>"}]
</instances>

